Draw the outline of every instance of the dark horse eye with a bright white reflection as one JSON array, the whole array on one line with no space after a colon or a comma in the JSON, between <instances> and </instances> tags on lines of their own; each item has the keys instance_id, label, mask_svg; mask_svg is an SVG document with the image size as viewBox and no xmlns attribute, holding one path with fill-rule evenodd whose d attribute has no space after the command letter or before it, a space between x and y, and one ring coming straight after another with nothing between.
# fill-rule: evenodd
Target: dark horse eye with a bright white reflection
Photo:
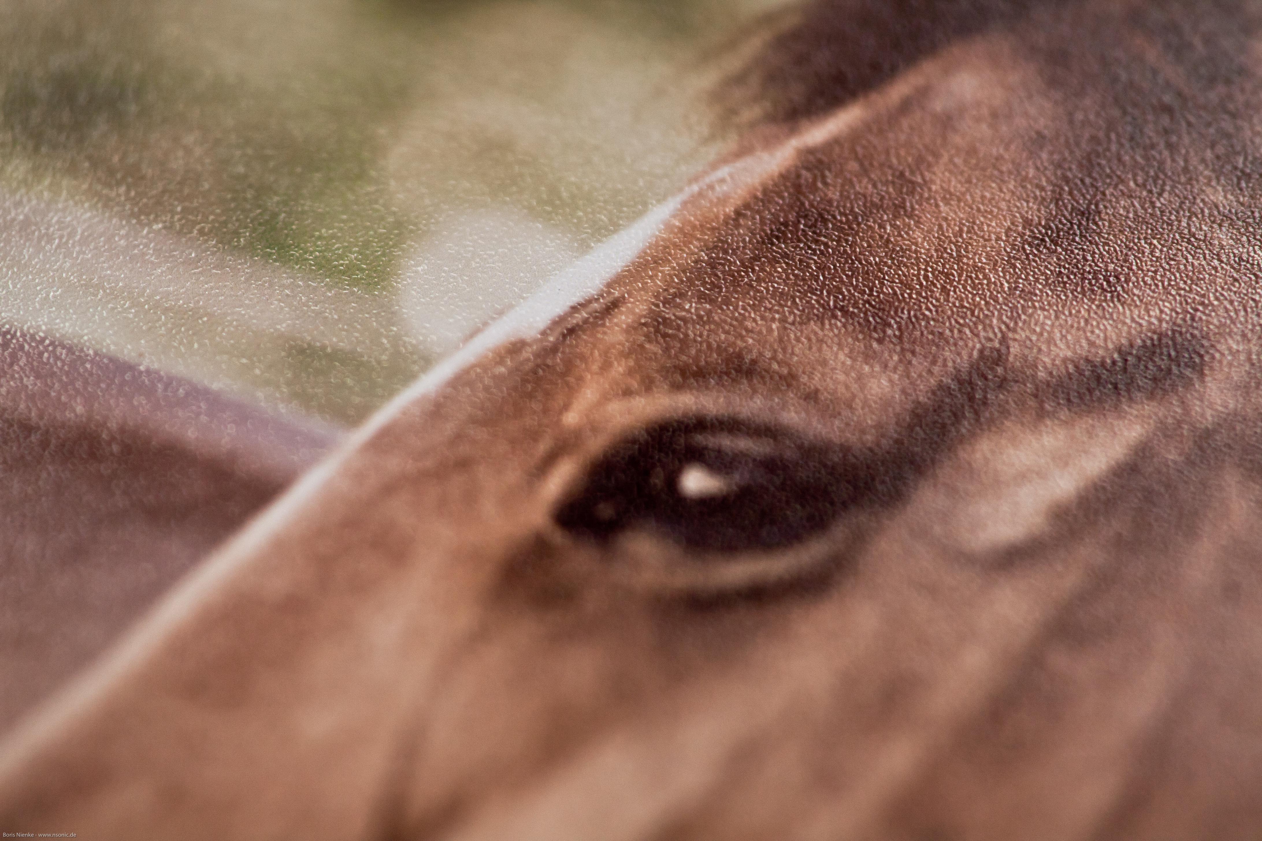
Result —
<instances>
[{"instance_id":1,"label":"dark horse eye with a bright white reflection","mask_svg":"<svg viewBox=\"0 0 1262 841\"><path fill-rule=\"evenodd\" d=\"M597 541L640 528L699 550L775 548L871 494L871 474L856 467L775 430L660 425L606 454L557 522Z\"/></svg>"}]
</instances>

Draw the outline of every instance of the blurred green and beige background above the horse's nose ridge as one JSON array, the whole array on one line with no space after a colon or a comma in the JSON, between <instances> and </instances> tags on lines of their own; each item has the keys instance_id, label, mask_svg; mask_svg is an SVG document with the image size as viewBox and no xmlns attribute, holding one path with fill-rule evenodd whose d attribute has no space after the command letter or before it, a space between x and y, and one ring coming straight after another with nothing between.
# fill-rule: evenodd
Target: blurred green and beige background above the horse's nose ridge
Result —
<instances>
[{"instance_id":1,"label":"blurred green and beige background above the horse's nose ridge","mask_svg":"<svg viewBox=\"0 0 1262 841\"><path fill-rule=\"evenodd\" d=\"M779 0L0 0L0 319L357 422L722 149Z\"/></svg>"}]
</instances>

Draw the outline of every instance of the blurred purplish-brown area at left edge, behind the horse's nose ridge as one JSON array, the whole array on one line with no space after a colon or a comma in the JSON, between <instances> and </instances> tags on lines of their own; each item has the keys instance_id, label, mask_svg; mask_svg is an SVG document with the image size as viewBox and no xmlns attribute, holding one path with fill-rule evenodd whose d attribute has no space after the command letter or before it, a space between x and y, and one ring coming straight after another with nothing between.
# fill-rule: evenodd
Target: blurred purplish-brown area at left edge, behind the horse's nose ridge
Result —
<instances>
[{"instance_id":1,"label":"blurred purplish-brown area at left edge, behind the horse's nose ridge","mask_svg":"<svg viewBox=\"0 0 1262 841\"><path fill-rule=\"evenodd\" d=\"M0 328L0 729L333 440L331 429Z\"/></svg>"}]
</instances>

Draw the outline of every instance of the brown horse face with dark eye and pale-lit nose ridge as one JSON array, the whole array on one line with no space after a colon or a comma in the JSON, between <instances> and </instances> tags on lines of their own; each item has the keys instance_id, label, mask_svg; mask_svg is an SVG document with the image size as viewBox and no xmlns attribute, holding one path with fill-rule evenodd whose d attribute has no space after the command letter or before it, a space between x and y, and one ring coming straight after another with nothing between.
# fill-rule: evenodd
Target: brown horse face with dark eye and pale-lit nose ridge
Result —
<instances>
[{"instance_id":1,"label":"brown horse face with dark eye and pale-lit nose ridge","mask_svg":"<svg viewBox=\"0 0 1262 841\"><path fill-rule=\"evenodd\" d=\"M170 837L1257 826L1230 156L1020 45L700 182L228 547L0 802Z\"/></svg>"}]
</instances>

